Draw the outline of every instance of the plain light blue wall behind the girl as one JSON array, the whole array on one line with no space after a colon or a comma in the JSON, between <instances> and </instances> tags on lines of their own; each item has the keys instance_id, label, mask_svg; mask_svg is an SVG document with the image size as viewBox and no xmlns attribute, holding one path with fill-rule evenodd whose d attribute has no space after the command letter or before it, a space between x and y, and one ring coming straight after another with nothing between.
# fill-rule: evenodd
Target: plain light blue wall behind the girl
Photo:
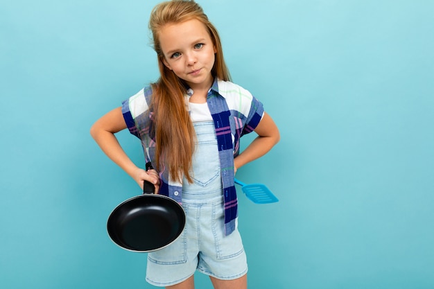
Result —
<instances>
[{"instance_id":1,"label":"plain light blue wall behind the girl","mask_svg":"<svg viewBox=\"0 0 434 289\"><path fill-rule=\"evenodd\" d=\"M157 2L0 4L1 288L153 288L105 230L140 189L89 128L157 79ZM200 3L281 131L237 174L280 199L238 195L249 288L434 288L434 2Z\"/></svg>"}]
</instances>

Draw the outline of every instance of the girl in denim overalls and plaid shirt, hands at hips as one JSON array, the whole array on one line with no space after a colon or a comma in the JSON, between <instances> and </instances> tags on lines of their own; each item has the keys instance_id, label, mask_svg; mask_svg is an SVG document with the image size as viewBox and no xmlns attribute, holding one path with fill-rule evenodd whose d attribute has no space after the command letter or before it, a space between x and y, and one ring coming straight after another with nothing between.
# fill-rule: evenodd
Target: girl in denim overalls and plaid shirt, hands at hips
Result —
<instances>
[{"instance_id":1,"label":"girl in denim overalls and plaid shirt, hands at hips","mask_svg":"<svg viewBox=\"0 0 434 289\"><path fill-rule=\"evenodd\" d=\"M197 3L160 3L149 27L159 80L98 119L92 137L139 186L152 182L186 212L180 238L148 254L149 283L191 289L199 270L214 288L247 288L234 174L266 154L279 130L257 98L229 82L220 37ZM125 155L114 136L125 128L141 140L155 170ZM240 137L252 131L258 137L239 153Z\"/></svg>"}]
</instances>

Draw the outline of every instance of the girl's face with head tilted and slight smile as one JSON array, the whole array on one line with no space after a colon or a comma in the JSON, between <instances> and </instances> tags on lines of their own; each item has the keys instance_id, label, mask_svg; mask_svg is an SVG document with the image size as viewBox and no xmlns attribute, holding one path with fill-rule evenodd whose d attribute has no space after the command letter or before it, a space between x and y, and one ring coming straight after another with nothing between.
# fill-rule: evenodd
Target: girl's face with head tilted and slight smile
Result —
<instances>
[{"instance_id":1,"label":"girl's face with head tilted and slight smile","mask_svg":"<svg viewBox=\"0 0 434 289\"><path fill-rule=\"evenodd\" d=\"M213 82L216 47L198 19L167 24L159 31L164 65L191 89L209 89Z\"/></svg>"}]
</instances>

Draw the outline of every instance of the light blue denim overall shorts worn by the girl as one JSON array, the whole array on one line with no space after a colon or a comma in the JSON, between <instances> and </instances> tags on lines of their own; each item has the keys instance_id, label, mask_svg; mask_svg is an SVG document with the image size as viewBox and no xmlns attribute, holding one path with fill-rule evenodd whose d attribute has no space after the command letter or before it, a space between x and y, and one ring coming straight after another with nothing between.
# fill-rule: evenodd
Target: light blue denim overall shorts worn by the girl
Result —
<instances>
[{"instance_id":1,"label":"light blue denim overall shorts worn by the girl","mask_svg":"<svg viewBox=\"0 0 434 289\"><path fill-rule=\"evenodd\" d=\"M184 180L182 207L186 226L174 243L148 253L146 281L171 286L196 270L217 279L232 280L248 271L238 229L225 236L225 210L214 124L195 123L198 139L193 156L193 184Z\"/></svg>"}]
</instances>

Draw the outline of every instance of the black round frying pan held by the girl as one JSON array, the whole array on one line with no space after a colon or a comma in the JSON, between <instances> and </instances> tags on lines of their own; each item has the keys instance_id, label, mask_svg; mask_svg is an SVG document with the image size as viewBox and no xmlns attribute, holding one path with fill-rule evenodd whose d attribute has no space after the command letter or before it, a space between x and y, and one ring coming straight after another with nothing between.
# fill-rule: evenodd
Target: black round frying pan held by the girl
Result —
<instances>
[{"instance_id":1,"label":"black round frying pan held by the girl","mask_svg":"<svg viewBox=\"0 0 434 289\"><path fill-rule=\"evenodd\" d=\"M152 166L146 164L146 168ZM145 181L143 195L125 200L110 213L107 232L116 245L132 252L153 252L180 236L185 227L184 209L154 192L154 185Z\"/></svg>"}]
</instances>

